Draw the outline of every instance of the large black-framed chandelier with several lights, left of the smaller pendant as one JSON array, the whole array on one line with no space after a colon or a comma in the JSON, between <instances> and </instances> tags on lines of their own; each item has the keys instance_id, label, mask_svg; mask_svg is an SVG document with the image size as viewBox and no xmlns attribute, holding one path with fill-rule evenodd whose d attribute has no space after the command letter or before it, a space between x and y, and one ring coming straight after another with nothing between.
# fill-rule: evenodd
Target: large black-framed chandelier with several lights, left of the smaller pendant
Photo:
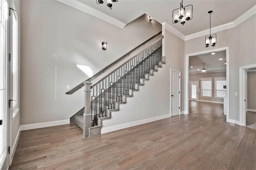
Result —
<instances>
[{"instance_id":1,"label":"large black-framed chandelier with several lights, left of the smaller pendant","mask_svg":"<svg viewBox=\"0 0 256 170\"><path fill-rule=\"evenodd\" d=\"M185 8L191 8L185 10ZM193 5L187 5L183 7L183 0L180 2L180 8L177 8L172 11L172 24L176 24L179 22L180 19L180 24L184 25L185 20L189 21L192 20L193 18Z\"/></svg>"}]
</instances>

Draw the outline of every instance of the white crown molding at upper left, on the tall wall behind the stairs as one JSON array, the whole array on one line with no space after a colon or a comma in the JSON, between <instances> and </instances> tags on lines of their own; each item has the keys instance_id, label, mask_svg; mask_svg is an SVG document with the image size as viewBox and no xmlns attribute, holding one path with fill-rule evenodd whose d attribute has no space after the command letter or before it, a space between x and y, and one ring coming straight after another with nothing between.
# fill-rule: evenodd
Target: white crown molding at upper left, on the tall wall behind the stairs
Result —
<instances>
[{"instance_id":1,"label":"white crown molding at upper left, on the tall wall behind the stairs","mask_svg":"<svg viewBox=\"0 0 256 170\"><path fill-rule=\"evenodd\" d=\"M76 8L80 11L86 12L87 14L90 14L92 16L95 16L96 18L99 18L103 21L106 21L110 24L113 24L114 26L117 26L119 28L124 29L124 26L126 26L125 23L103 13L99 10L96 10L86 4L83 4L82 2L79 2L78 0L57 0L59 2L62 2L63 4L66 4L68 6L72 6L73 8Z\"/></svg>"}]
</instances>

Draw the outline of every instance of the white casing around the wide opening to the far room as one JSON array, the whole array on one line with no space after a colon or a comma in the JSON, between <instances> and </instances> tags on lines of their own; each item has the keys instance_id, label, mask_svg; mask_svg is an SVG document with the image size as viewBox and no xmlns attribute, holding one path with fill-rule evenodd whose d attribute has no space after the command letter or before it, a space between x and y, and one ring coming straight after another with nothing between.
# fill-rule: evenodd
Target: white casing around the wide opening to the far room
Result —
<instances>
[{"instance_id":1,"label":"white casing around the wide opening to the far room","mask_svg":"<svg viewBox=\"0 0 256 170\"><path fill-rule=\"evenodd\" d=\"M206 53L212 53L212 52L218 52L218 51L226 51L226 80L227 80L227 92L226 92L226 121L230 122L229 119L229 46L228 47L222 47L222 48L216 48L216 49L210 49L207 51L200 51L196 53L190 53L186 54L185 57L185 114L189 114L189 57L195 56L195 55L201 55ZM232 123L232 122L231 122Z\"/></svg>"}]
</instances>

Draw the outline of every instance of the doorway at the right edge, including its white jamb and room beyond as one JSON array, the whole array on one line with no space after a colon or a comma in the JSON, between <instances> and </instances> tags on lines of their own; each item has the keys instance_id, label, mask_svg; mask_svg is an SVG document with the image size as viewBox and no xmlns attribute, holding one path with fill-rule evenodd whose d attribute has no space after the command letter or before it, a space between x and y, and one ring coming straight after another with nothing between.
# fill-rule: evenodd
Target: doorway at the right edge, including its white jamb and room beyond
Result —
<instances>
[{"instance_id":1,"label":"doorway at the right edge, including its white jamb and room beyond","mask_svg":"<svg viewBox=\"0 0 256 170\"><path fill-rule=\"evenodd\" d=\"M256 130L256 64L239 68L240 125Z\"/></svg>"}]
</instances>

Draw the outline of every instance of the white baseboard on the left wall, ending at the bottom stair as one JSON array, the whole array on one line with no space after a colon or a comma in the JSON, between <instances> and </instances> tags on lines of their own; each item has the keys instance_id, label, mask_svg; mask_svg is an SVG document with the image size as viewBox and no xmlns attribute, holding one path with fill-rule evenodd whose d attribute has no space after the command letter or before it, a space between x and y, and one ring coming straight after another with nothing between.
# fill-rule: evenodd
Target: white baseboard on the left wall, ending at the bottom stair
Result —
<instances>
[{"instance_id":1,"label":"white baseboard on the left wall, ending at the bottom stair","mask_svg":"<svg viewBox=\"0 0 256 170\"><path fill-rule=\"evenodd\" d=\"M70 120L62 120L62 121L52 121L52 122L43 122L43 123L34 123L28 125L20 125L20 130L30 130L35 128L44 128L44 127L54 127L58 125L66 125L70 124Z\"/></svg>"}]
</instances>

